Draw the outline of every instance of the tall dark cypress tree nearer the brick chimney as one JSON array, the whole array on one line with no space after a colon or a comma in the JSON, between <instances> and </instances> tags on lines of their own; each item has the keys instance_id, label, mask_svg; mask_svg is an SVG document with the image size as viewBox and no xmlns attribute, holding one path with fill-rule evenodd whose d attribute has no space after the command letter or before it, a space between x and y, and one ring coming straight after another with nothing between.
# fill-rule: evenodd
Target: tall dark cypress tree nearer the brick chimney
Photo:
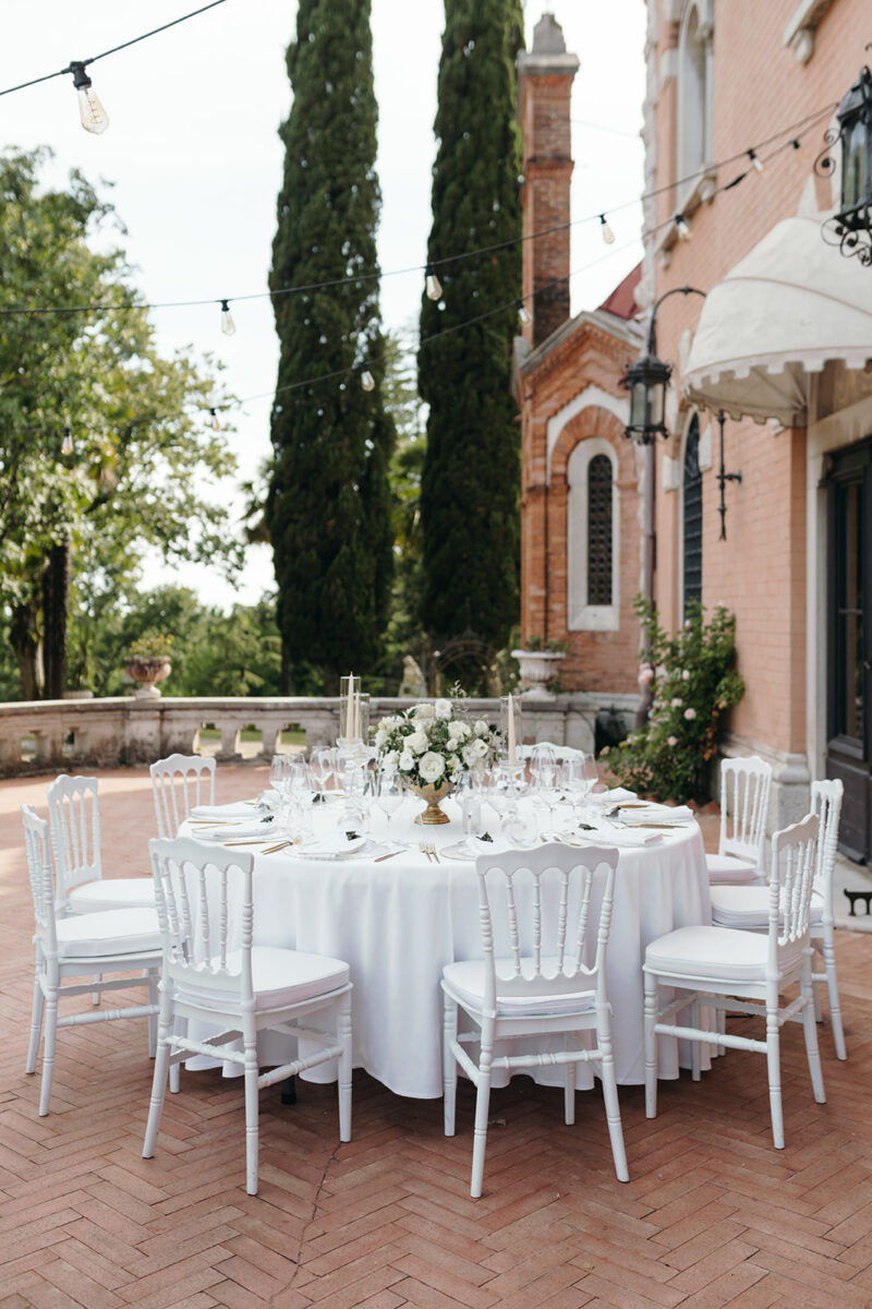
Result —
<instances>
[{"instance_id":1,"label":"tall dark cypress tree nearer the brick chimney","mask_svg":"<svg viewBox=\"0 0 872 1309\"><path fill-rule=\"evenodd\" d=\"M515 58L520 0L446 0L418 385L429 402L421 484L424 626L506 643L518 615L520 440L511 397L522 220ZM469 259L451 257L515 242ZM448 260L442 263L441 260ZM498 313L492 310L505 306ZM425 343L425 338L484 317Z\"/></svg>"}]
</instances>

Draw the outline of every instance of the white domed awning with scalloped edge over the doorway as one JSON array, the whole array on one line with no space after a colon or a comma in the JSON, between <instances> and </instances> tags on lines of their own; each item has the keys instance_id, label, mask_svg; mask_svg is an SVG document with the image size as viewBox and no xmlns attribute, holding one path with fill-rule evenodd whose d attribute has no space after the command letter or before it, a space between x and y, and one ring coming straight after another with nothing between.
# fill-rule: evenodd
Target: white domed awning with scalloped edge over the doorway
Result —
<instances>
[{"instance_id":1,"label":"white domed awning with scalloped edge over the doorway","mask_svg":"<svg viewBox=\"0 0 872 1309\"><path fill-rule=\"evenodd\" d=\"M694 403L804 427L807 374L872 359L872 270L826 243L824 217L784 219L709 292L682 380Z\"/></svg>"}]
</instances>

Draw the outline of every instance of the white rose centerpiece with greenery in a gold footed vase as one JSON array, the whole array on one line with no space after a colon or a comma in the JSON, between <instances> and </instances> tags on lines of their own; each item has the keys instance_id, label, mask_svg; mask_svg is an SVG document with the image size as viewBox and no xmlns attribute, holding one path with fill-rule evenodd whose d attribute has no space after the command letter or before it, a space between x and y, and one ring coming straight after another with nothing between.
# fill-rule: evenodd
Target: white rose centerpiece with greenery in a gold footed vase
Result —
<instances>
[{"instance_id":1,"label":"white rose centerpiece with greenery in a gold footed vase","mask_svg":"<svg viewBox=\"0 0 872 1309\"><path fill-rule=\"evenodd\" d=\"M497 754L498 734L484 719L467 721L451 700L413 704L379 721L375 751L379 768L396 768L428 809L421 821L447 822L438 808L465 774L484 774ZM429 816L429 817L428 817Z\"/></svg>"}]
</instances>

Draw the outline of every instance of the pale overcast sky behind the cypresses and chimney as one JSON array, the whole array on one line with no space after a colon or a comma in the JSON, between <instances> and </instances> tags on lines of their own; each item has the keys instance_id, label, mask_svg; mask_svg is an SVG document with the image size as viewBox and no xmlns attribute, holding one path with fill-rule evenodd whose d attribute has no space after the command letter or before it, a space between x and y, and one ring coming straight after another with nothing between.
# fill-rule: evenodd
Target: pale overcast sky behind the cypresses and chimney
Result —
<instances>
[{"instance_id":1,"label":"pale overcast sky behind the cypresses and chimney","mask_svg":"<svg viewBox=\"0 0 872 1309\"><path fill-rule=\"evenodd\" d=\"M89 59L196 9L196 0L4 0L0 89ZM643 0L553 0L526 5L527 43L550 8L567 48L580 59L573 92L573 219L624 208L611 219L614 246L599 224L573 230L573 312L596 306L641 258ZM72 77L0 97L7 147L50 145L55 168L78 168L112 183L127 228L124 246L149 302L258 295L267 288L282 152L277 127L290 107L285 48L294 0L226 0L169 31L98 60L90 69L109 115L102 136L78 123ZM442 0L373 0L378 171L383 206L383 274L420 266L430 228L435 81ZM422 274L384 276L386 326L414 322ZM220 331L216 306L159 309L153 321L165 350L212 352L225 382L251 399L233 439L242 476L269 452L269 399L277 342L268 298L233 306L237 334ZM234 500L231 486L227 499ZM230 588L208 569L171 572L152 564L146 584L196 585L205 602L251 602L272 585L265 548L251 552Z\"/></svg>"}]
</instances>

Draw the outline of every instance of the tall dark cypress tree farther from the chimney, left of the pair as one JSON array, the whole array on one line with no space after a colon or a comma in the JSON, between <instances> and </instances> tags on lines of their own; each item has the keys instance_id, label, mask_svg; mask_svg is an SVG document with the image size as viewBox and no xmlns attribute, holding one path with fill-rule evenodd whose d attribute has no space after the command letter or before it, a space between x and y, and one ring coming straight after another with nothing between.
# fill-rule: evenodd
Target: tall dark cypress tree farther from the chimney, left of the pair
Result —
<instances>
[{"instance_id":1,"label":"tall dark cypress tree farther from the chimney, left of the pair","mask_svg":"<svg viewBox=\"0 0 872 1309\"><path fill-rule=\"evenodd\" d=\"M273 296L281 352L267 524L285 678L309 661L333 690L340 672L375 664L392 572L370 0L299 0L288 73L269 287L337 284ZM369 391L363 360L373 360ZM357 372L311 381L341 369Z\"/></svg>"}]
</instances>

